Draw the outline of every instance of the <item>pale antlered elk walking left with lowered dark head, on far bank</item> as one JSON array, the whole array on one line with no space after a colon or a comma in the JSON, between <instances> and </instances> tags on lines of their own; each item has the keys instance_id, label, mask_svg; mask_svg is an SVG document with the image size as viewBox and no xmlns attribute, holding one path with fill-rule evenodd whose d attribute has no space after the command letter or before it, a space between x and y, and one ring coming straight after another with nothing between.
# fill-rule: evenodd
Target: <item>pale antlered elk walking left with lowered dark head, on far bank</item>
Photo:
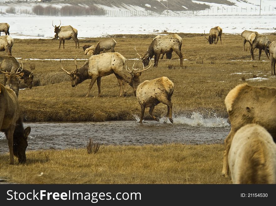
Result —
<instances>
[{"instance_id":1,"label":"pale antlered elk walking left with lowered dark head, on far bank","mask_svg":"<svg viewBox=\"0 0 276 206\"><path fill-rule=\"evenodd\" d=\"M88 92L85 97L88 97L96 80L98 85L98 97L101 97L101 77L114 73L120 85L119 97L121 97L123 90L125 95L125 82L128 82L127 76L123 73L125 60L125 57L120 53L109 52L99 55L92 55L80 69L77 69L76 61L76 68L74 71L68 72L63 69L62 65L61 69L70 76L72 87L75 87L77 84L86 79L91 79Z\"/></svg>"}]
</instances>

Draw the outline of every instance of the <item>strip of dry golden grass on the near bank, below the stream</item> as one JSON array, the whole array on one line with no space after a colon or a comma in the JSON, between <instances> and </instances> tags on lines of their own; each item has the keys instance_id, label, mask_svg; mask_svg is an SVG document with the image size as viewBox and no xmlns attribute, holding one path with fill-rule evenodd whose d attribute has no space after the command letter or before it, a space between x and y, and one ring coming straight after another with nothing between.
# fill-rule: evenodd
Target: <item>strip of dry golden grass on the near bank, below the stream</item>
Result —
<instances>
[{"instance_id":1,"label":"strip of dry golden grass on the near bank, below the stream","mask_svg":"<svg viewBox=\"0 0 276 206\"><path fill-rule=\"evenodd\" d=\"M223 145L217 144L109 145L96 154L67 149L26 156L26 164L11 166L8 154L0 155L0 177L21 184L231 183L221 175Z\"/></svg>"}]
</instances>

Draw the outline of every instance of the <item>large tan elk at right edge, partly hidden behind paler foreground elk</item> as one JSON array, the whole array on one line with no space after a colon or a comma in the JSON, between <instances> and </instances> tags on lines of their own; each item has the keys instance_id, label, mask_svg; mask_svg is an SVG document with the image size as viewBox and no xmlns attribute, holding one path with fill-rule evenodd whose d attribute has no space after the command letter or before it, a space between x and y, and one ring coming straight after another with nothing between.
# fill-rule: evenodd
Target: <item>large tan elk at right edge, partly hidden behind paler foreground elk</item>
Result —
<instances>
[{"instance_id":1,"label":"large tan elk at right edge, partly hidden behind paler foreground elk","mask_svg":"<svg viewBox=\"0 0 276 206\"><path fill-rule=\"evenodd\" d=\"M231 131L224 140L222 175L228 176L228 153L233 136L242 126L255 123L263 126L276 140L276 88L253 87L246 83L233 88L225 98Z\"/></svg>"}]
</instances>

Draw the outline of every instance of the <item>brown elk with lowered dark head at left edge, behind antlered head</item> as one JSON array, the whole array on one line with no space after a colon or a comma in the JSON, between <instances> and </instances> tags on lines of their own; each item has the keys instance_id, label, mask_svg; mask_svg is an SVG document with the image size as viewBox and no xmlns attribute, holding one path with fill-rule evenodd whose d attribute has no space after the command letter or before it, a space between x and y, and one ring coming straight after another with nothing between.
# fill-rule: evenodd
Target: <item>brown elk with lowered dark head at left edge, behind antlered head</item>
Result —
<instances>
[{"instance_id":1,"label":"brown elk with lowered dark head at left edge, behind antlered head","mask_svg":"<svg viewBox=\"0 0 276 206\"><path fill-rule=\"evenodd\" d=\"M34 79L34 74L33 72L24 69L23 68L23 63L21 61L21 64L18 62L18 60L14 56L4 56L0 55L0 62L3 71L8 71L8 72L16 72L18 68L24 73L20 79L24 80L24 83L31 89L33 86L33 79ZM7 82L7 77L4 75L4 86L6 85Z\"/></svg>"}]
</instances>

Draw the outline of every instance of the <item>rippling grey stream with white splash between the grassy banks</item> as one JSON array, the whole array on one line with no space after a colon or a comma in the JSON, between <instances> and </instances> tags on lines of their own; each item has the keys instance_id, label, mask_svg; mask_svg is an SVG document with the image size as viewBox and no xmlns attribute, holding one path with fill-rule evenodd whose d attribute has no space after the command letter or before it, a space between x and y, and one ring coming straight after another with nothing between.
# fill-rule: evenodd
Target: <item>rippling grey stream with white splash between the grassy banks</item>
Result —
<instances>
[{"instance_id":1,"label":"rippling grey stream with white splash between the grassy banks","mask_svg":"<svg viewBox=\"0 0 276 206\"><path fill-rule=\"evenodd\" d=\"M31 127L27 151L40 149L85 148L89 138L107 145L146 145L164 143L223 143L230 132L227 119L203 119L198 113L190 118L163 118L160 122L144 120L109 122L24 123ZM0 133L0 153L8 152L8 141Z\"/></svg>"}]
</instances>

